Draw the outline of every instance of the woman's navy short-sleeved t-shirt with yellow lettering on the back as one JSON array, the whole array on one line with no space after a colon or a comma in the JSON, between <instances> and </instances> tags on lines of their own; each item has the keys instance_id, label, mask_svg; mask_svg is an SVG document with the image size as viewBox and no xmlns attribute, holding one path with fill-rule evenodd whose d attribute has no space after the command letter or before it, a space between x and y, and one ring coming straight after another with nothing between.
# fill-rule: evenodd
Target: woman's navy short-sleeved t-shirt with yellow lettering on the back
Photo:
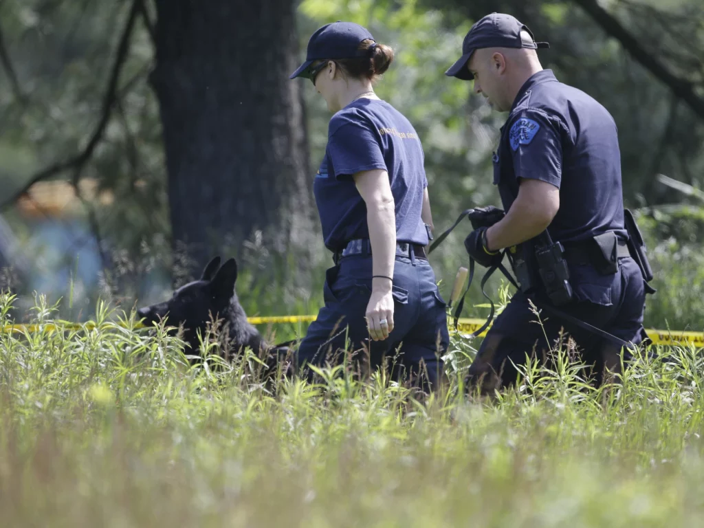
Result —
<instances>
[{"instance_id":1,"label":"woman's navy short-sleeved t-shirt with yellow lettering on the back","mask_svg":"<svg viewBox=\"0 0 704 528\"><path fill-rule=\"evenodd\" d=\"M352 239L369 238L367 206L352 175L373 169L389 174L396 240L425 246L422 145L408 119L378 99L353 101L330 120L325 158L313 184L325 246L341 251Z\"/></svg>"}]
</instances>

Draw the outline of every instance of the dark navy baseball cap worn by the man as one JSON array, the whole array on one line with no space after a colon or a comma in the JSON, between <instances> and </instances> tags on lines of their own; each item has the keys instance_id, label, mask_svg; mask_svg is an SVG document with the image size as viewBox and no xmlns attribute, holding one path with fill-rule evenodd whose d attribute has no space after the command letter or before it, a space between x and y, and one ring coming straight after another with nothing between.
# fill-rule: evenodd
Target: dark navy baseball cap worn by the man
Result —
<instances>
[{"instance_id":1,"label":"dark navy baseball cap worn by the man","mask_svg":"<svg viewBox=\"0 0 704 528\"><path fill-rule=\"evenodd\" d=\"M530 40L521 38L521 32L526 31ZM535 42L533 32L528 26L505 13L491 13L472 26L462 43L462 56L458 58L449 70L448 77L457 77L465 81L472 80L472 74L467 70L467 61L474 50L482 48L549 48L547 42Z\"/></svg>"}]
</instances>

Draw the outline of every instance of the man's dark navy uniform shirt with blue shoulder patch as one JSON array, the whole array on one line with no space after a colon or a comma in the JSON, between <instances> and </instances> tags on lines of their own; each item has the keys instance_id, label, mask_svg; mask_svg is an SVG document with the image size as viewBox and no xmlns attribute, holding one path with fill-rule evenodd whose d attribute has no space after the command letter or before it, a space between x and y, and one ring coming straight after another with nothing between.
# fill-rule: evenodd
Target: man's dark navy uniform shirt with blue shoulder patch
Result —
<instances>
[{"instance_id":1,"label":"man's dark navy uniform shirt with blue shoulder patch","mask_svg":"<svg viewBox=\"0 0 704 528\"><path fill-rule=\"evenodd\" d=\"M554 241L607 231L627 239L616 124L600 103L558 82L551 70L524 83L501 128L494 184L505 210L518 196L518 178L560 189L560 208L548 227Z\"/></svg>"}]
</instances>

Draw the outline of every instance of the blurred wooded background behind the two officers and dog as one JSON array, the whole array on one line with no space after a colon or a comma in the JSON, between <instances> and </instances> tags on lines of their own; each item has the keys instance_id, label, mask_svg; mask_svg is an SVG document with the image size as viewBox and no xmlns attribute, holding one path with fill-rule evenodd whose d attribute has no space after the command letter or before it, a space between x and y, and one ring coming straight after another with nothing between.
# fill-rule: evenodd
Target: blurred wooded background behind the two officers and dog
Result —
<instances>
[{"instance_id":1,"label":"blurred wooded background behind the two officers and dog","mask_svg":"<svg viewBox=\"0 0 704 528\"><path fill-rule=\"evenodd\" d=\"M506 115L444 76L493 11L550 42L543 67L617 122L656 272L646 325L704 329L701 0L0 0L0 288L20 296L16 317L35 292L77 321L99 298L161 301L215 254L237 258L248 315L316 313L332 265L312 197L329 114L288 76L335 20L396 51L377 93L420 134L436 232L499 205ZM432 258L445 296L468 230ZM486 315L477 286L468 315Z\"/></svg>"}]
</instances>

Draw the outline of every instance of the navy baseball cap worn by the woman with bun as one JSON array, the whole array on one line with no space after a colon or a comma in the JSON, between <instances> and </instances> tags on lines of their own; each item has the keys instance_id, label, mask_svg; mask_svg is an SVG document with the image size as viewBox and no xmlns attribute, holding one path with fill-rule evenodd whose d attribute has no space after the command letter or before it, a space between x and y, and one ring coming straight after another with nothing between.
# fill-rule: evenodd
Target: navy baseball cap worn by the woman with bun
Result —
<instances>
[{"instance_id":1,"label":"navy baseball cap worn by the woman with bun","mask_svg":"<svg viewBox=\"0 0 704 528\"><path fill-rule=\"evenodd\" d=\"M364 27L351 22L334 22L321 27L308 40L306 62L289 79L308 78L310 65L325 58L362 58L369 56L369 51L360 50L363 40L374 40L372 34ZM376 41L375 41L376 42Z\"/></svg>"}]
</instances>

